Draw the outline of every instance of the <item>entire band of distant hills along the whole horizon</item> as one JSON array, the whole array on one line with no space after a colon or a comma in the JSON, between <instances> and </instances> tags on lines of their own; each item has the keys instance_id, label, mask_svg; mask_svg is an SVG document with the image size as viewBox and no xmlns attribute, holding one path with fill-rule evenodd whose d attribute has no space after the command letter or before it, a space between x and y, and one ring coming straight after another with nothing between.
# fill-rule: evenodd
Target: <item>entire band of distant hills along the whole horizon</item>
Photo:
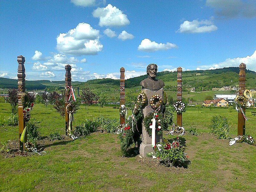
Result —
<instances>
[{"instance_id":1,"label":"entire band of distant hills along the whole horizon","mask_svg":"<svg viewBox=\"0 0 256 192\"><path fill-rule=\"evenodd\" d=\"M246 70L246 87L256 88L256 72ZM238 67L221 68L214 70L196 70L196 71L183 71L182 72L182 84L184 85L183 90L186 88L196 87L198 90L211 90L213 87L222 86L238 86ZM125 75L125 73L124 73ZM126 88L133 88L140 85L140 82L147 78L147 75L134 77L125 80ZM164 81L165 90L174 90L177 85L177 72L163 71L157 73L157 78ZM79 86L80 90L89 86L94 91L106 91L106 90L119 90L120 80L115 79L92 79L87 82L72 81L72 85ZM26 81L27 90L47 90L56 91L63 89L65 81L49 81L49 80L38 80L38 81ZM17 88L16 79L8 79L0 77L0 88Z\"/></svg>"}]
</instances>

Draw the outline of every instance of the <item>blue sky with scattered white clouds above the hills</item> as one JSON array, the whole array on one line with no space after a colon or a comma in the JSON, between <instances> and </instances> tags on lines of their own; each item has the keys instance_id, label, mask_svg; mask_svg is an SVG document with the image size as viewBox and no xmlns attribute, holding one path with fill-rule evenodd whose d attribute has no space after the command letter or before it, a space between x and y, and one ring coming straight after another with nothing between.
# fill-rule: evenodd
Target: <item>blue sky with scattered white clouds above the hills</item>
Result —
<instances>
[{"instance_id":1,"label":"blue sky with scattered white clouds above the hills","mask_svg":"<svg viewBox=\"0 0 256 192\"><path fill-rule=\"evenodd\" d=\"M0 1L0 77L72 81L158 71L238 67L256 71L254 0Z\"/></svg>"}]
</instances>

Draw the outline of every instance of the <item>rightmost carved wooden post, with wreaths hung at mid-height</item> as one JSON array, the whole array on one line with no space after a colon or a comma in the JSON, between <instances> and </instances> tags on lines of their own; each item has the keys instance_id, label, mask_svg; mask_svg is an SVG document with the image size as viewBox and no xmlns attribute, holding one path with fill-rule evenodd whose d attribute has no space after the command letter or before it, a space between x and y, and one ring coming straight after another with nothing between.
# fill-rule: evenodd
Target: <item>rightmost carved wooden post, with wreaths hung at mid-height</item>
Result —
<instances>
[{"instance_id":1,"label":"rightmost carved wooden post, with wreaths hung at mid-height","mask_svg":"<svg viewBox=\"0 0 256 192\"><path fill-rule=\"evenodd\" d=\"M239 65L239 88L238 88L238 94L239 95L243 95L244 94L244 90L245 90L245 69L246 69L246 65L244 63L241 63ZM243 111L244 111L244 115L245 115L245 106L241 106ZM245 119L244 116L240 110L240 108L238 109L238 116L237 116L237 135L245 135Z\"/></svg>"}]
</instances>

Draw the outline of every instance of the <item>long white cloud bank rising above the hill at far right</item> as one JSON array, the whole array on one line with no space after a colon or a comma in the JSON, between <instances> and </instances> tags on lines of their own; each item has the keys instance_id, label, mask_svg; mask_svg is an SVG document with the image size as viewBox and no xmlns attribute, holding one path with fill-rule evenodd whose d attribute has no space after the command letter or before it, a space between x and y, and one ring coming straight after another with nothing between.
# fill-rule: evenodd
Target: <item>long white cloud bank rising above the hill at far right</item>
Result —
<instances>
[{"instance_id":1,"label":"long white cloud bank rising above the hill at far right","mask_svg":"<svg viewBox=\"0 0 256 192\"><path fill-rule=\"evenodd\" d=\"M203 69L217 69L217 68L224 68L224 67L238 67L241 63L246 64L246 69L256 71L256 50L251 56L246 56L242 58L237 57L234 59L229 58L217 64L214 63L209 66L199 66L199 67Z\"/></svg>"}]
</instances>

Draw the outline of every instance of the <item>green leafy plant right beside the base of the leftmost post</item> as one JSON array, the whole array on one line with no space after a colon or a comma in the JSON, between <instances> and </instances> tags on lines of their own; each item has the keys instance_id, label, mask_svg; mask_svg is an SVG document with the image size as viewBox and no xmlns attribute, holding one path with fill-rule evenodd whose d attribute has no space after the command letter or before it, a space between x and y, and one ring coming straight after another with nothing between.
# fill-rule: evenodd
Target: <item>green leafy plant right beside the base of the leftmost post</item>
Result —
<instances>
[{"instance_id":1,"label":"green leafy plant right beside the base of the leftmost post","mask_svg":"<svg viewBox=\"0 0 256 192\"><path fill-rule=\"evenodd\" d=\"M27 125L27 132L28 132L28 142L32 143L36 146L36 141L40 138L40 131L37 122L28 122Z\"/></svg>"}]
</instances>

